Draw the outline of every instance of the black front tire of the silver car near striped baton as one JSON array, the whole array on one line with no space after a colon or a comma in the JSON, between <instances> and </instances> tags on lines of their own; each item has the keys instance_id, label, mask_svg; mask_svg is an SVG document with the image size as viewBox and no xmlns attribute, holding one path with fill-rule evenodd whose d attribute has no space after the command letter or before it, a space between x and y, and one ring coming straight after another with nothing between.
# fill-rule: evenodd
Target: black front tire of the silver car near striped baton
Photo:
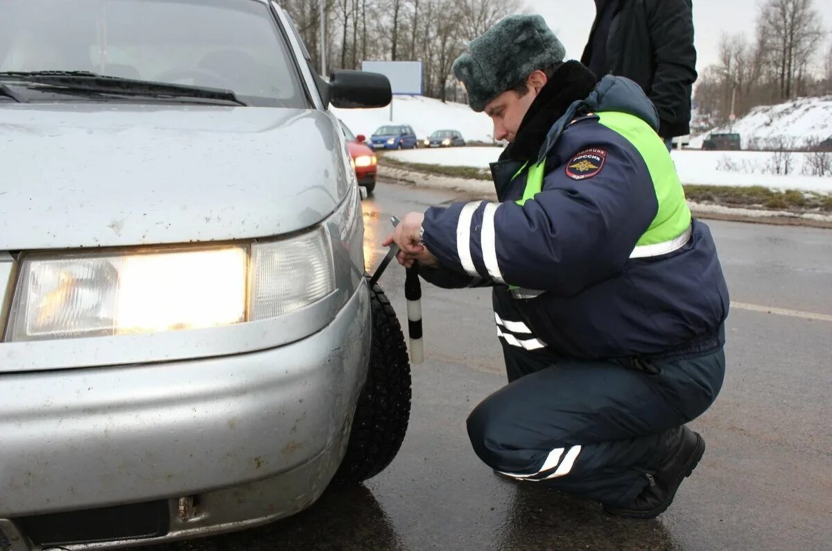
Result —
<instances>
[{"instance_id":1,"label":"black front tire of the silver car near striped baton","mask_svg":"<svg viewBox=\"0 0 832 551\"><path fill-rule=\"evenodd\" d=\"M410 364L399 319L379 285L370 289L373 347L355 407L347 451L334 480L359 483L383 471L397 453L410 419Z\"/></svg>"}]
</instances>

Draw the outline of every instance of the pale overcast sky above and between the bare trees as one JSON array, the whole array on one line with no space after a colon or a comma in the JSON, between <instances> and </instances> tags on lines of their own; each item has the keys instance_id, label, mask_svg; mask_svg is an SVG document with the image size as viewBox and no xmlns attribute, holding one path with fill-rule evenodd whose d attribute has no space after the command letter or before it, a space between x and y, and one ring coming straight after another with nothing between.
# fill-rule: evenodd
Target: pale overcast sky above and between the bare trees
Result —
<instances>
[{"instance_id":1,"label":"pale overcast sky above and between the bare trees","mask_svg":"<svg viewBox=\"0 0 832 551\"><path fill-rule=\"evenodd\" d=\"M751 41L754 37L757 5L762 0L693 0L693 24L695 28L696 69L716 63L717 46L723 32L744 32ZM595 18L593 0L526 0L527 11L540 13L552 31L567 47L567 58L581 57L587 43L592 20ZM815 0L823 26L832 27L832 2ZM824 52L829 48L825 41Z\"/></svg>"}]
</instances>

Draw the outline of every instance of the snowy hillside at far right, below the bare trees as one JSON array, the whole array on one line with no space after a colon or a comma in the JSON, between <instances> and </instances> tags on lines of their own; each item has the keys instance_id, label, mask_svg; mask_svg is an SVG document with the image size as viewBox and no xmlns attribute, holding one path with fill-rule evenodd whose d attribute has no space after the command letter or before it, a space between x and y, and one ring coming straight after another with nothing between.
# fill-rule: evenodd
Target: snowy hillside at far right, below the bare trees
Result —
<instances>
[{"instance_id":1,"label":"snowy hillside at far right, below the bare trees","mask_svg":"<svg viewBox=\"0 0 832 551\"><path fill-rule=\"evenodd\" d=\"M755 107L745 117L737 119L733 127L726 124L691 137L690 146L700 149L702 141L711 132L739 133L743 149L765 148L765 141L777 137L794 138L798 147L809 137L823 141L832 137L832 96L802 97L778 105Z\"/></svg>"}]
</instances>

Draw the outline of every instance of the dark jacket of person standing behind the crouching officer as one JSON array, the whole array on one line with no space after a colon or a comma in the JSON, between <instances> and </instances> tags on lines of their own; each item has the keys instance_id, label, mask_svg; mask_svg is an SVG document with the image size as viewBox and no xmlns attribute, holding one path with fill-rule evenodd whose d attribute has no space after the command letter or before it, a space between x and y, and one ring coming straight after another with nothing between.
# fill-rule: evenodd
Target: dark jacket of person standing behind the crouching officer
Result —
<instances>
[{"instance_id":1,"label":"dark jacket of person standing behind the crouching officer","mask_svg":"<svg viewBox=\"0 0 832 551\"><path fill-rule=\"evenodd\" d=\"M607 34L603 70L638 83L659 112L661 137L690 132L691 89L696 82L691 0L597 0L598 17L592 25L581 61L596 66L593 44L602 5L618 2Z\"/></svg>"}]
</instances>

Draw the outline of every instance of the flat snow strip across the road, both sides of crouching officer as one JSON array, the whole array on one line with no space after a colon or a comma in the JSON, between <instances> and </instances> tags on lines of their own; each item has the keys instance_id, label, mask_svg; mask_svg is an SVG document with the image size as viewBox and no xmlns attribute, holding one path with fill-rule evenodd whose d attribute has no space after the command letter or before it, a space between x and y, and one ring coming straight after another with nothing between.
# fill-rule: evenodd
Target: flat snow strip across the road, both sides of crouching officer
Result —
<instances>
[{"instance_id":1,"label":"flat snow strip across the road, both sides of crouching officer","mask_svg":"<svg viewBox=\"0 0 832 551\"><path fill-rule=\"evenodd\" d=\"M387 155L403 162L440 166L474 166L488 168L497 161L499 147L450 147L391 151ZM766 186L772 189L795 189L832 193L832 176L803 176L803 164L809 154L792 153L794 175L765 174L774 154L765 151L673 151L676 170L684 184L714 186Z\"/></svg>"}]
</instances>

